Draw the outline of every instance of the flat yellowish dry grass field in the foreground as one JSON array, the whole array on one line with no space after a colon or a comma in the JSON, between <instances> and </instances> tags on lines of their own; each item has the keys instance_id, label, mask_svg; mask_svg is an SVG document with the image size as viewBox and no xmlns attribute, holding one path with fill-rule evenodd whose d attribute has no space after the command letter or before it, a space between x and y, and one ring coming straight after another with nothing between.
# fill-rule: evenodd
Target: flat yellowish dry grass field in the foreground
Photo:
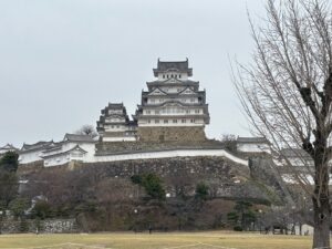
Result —
<instances>
[{"instance_id":1,"label":"flat yellowish dry grass field in the foreground","mask_svg":"<svg viewBox=\"0 0 332 249\"><path fill-rule=\"evenodd\" d=\"M1 235L0 248L40 249L309 249L312 237L211 232Z\"/></svg>"}]
</instances>

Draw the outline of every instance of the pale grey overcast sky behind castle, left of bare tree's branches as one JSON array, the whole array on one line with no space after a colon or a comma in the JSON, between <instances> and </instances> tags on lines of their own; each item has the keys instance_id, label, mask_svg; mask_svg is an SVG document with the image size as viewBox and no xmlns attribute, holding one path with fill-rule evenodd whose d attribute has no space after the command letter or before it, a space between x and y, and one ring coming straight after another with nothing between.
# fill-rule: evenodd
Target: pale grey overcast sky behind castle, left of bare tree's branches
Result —
<instances>
[{"instance_id":1,"label":"pale grey overcast sky behind castle, left of bare tree's branches","mask_svg":"<svg viewBox=\"0 0 332 249\"><path fill-rule=\"evenodd\" d=\"M250 61L257 0L0 0L0 146L62 139L108 102L129 114L160 60L189 59L209 137L248 135L228 55Z\"/></svg>"}]
</instances>

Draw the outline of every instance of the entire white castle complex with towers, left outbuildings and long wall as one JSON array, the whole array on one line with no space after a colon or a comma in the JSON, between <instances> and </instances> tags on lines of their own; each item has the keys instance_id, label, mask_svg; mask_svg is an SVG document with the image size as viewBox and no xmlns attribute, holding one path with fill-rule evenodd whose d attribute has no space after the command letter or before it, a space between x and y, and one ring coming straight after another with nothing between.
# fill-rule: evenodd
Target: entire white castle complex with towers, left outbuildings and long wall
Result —
<instances>
[{"instance_id":1,"label":"entire white castle complex with towers, left outbuildings and long wall","mask_svg":"<svg viewBox=\"0 0 332 249\"><path fill-rule=\"evenodd\" d=\"M188 59L158 60L153 72L155 80L146 83L147 91L142 92L132 117L123 103L108 103L96 122L97 139L65 134L60 142L24 144L19 151L20 165L39 162L43 167L52 167L71 162L222 156L248 166L246 159L225 151L220 142L206 137L205 126L210 122L206 91L191 80ZM260 144L243 141L239 151L257 149L261 151Z\"/></svg>"}]
</instances>

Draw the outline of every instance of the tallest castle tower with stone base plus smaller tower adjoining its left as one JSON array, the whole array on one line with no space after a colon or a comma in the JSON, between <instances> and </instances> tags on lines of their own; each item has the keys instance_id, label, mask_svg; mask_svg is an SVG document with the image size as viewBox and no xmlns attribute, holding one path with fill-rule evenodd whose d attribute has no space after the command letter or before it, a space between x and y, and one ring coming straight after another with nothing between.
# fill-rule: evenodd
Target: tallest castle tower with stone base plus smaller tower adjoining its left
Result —
<instances>
[{"instance_id":1,"label":"tallest castle tower with stone base plus smaller tower adjoining its left","mask_svg":"<svg viewBox=\"0 0 332 249\"><path fill-rule=\"evenodd\" d=\"M110 103L102 110L97 122L102 142L206 139L204 127L210 120L206 92L199 91L199 82L190 80L188 59L158 60L153 71L156 80L146 83L133 121L123 104Z\"/></svg>"}]
</instances>

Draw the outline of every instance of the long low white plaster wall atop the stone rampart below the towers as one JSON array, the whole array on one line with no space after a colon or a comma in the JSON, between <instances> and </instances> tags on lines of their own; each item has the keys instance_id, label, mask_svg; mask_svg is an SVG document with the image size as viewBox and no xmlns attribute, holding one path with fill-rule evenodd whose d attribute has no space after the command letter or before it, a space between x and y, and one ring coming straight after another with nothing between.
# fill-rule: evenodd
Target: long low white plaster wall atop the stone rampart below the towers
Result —
<instances>
[{"instance_id":1,"label":"long low white plaster wall atop the stone rampart below the towers","mask_svg":"<svg viewBox=\"0 0 332 249\"><path fill-rule=\"evenodd\" d=\"M105 155L105 156L95 156L93 162L117 162L117 160L131 160L131 159L195 157L195 156L222 156L237 164L248 167L248 160L236 157L224 149L174 149L174 151L165 151L165 152Z\"/></svg>"}]
</instances>

